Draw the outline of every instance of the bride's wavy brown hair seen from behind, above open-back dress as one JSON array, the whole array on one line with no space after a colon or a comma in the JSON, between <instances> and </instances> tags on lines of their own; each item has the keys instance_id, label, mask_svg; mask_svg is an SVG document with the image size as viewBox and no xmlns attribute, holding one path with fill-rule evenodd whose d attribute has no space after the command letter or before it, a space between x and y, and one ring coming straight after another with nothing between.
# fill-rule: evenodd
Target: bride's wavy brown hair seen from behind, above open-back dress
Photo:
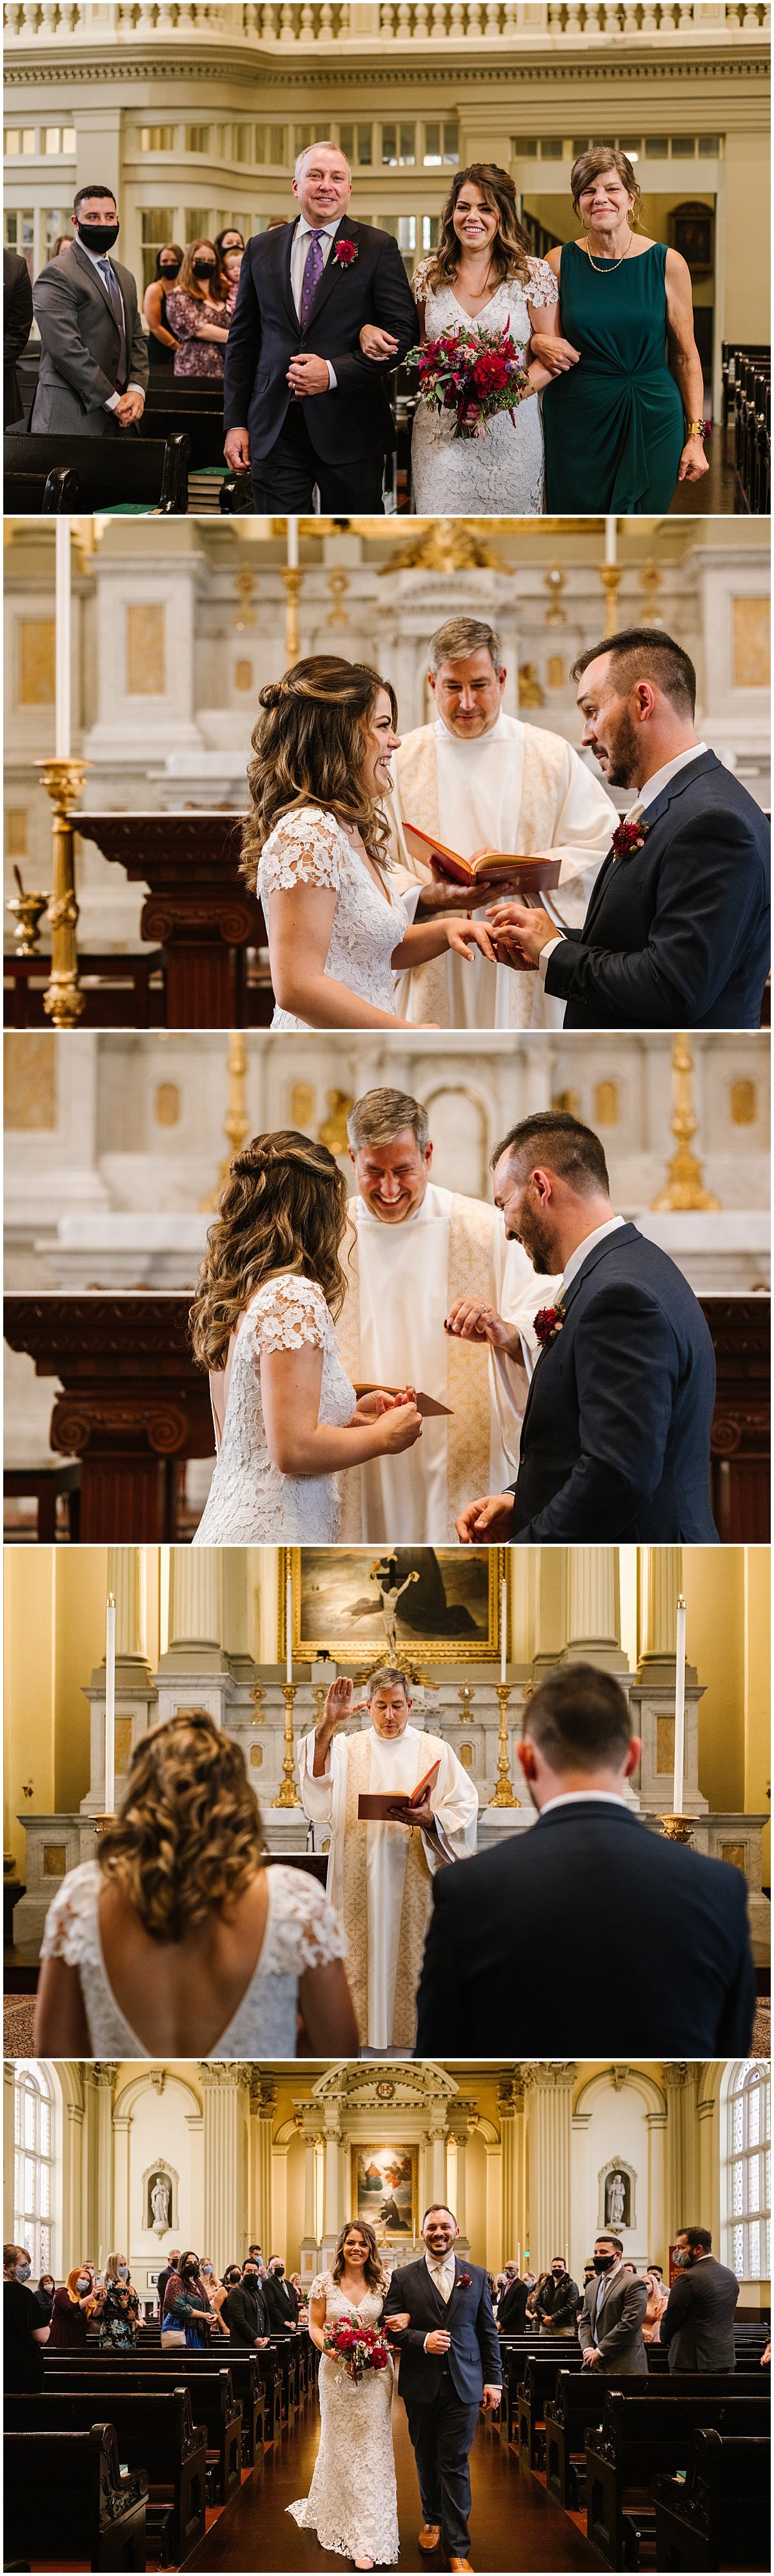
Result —
<instances>
[{"instance_id":1,"label":"bride's wavy brown hair seen from behind, above open-back dress","mask_svg":"<svg viewBox=\"0 0 774 2576\"><path fill-rule=\"evenodd\" d=\"M245 1893L266 1842L240 1744L206 1708L178 1708L139 1739L121 1814L98 1839L150 1940L181 1942Z\"/></svg>"}]
</instances>

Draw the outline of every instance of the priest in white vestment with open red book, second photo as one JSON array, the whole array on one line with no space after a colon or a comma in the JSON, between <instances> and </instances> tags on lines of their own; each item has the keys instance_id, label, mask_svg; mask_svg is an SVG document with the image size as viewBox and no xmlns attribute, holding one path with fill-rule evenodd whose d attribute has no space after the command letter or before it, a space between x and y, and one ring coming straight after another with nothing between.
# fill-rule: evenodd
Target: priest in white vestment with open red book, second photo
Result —
<instances>
[{"instance_id":1,"label":"priest in white vestment with open red book, second photo","mask_svg":"<svg viewBox=\"0 0 774 2576\"><path fill-rule=\"evenodd\" d=\"M410 855L408 822L418 832L439 832L459 858L477 850L539 858L550 850L560 858L552 904L570 930L580 927L619 822L617 806L562 734L503 714L506 665L493 626L449 618L431 636L428 659L436 721L405 734L392 760L400 891L421 886L415 917L467 909L467 889L449 889L433 878L431 863L423 868ZM490 886L475 907L477 920L485 920L495 891ZM539 974L493 966L482 956L462 969L452 953L405 974L395 1007L405 1020L441 1028L562 1028L565 1018L565 1002L544 992Z\"/></svg>"}]
</instances>

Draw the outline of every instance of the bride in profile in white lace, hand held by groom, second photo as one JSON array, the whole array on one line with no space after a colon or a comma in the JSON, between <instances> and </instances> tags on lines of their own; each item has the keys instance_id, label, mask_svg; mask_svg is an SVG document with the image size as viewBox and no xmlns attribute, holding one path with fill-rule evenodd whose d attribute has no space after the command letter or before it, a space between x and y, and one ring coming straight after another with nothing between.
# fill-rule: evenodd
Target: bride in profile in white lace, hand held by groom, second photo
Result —
<instances>
[{"instance_id":1,"label":"bride in profile in white lace, hand held by groom, second photo","mask_svg":"<svg viewBox=\"0 0 774 2576\"><path fill-rule=\"evenodd\" d=\"M400 747L387 680L312 654L261 690L243 868L268 925L271 1028L408 1028L395 979L454 948L493 956L482 922L413 922L390 886L390 760Z\"/></svg>"}]
</instances>

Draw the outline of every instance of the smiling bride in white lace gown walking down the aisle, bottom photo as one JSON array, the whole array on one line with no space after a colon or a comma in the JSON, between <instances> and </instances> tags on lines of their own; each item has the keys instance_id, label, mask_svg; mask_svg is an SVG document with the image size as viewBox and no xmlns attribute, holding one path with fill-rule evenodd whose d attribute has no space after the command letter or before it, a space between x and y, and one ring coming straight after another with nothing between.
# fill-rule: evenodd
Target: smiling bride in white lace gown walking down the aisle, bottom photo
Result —
<instances>
[{"instance_id":1,"label":"smiling bride in white lace gown walking down the aisle, bottom photo","mask_svg":"<svg viewBox=\"0 0 774 2576\"><path fill-rule=\"evenodd\" d=\"M330 2272L317 2272L310 2290L310 2336L322 2354L320 2450L310 2494L286 2512L302 2530L317 2532L320 2550L353 2558L356 2568L395 2566L400 2548L392 2360L387 2370L364 2370L361 2380L351 2380L346 2365L325 2352L325 2326L379 2326L384 2290L374 2228L348 2221Z\"/></svg>"}]
</instances>

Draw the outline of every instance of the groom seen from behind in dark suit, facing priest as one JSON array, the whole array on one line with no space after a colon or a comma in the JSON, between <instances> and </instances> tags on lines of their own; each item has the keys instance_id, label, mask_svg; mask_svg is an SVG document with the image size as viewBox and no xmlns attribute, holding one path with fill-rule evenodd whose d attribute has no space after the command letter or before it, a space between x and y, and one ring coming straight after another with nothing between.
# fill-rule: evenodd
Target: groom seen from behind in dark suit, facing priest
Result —
<instances>
[{"instance_id":1,"label":"groom seen from behind in dark suit, facing priest","mask_svg":"<svg viewBox=\"0 0 774 2576\"><path fill-rule=\"evenodd\" d=\"M565 1664L524 1708L537 1824L433 1878L418 2058L748 2056L756 1971L740 1870L648 1832L627 1695ZM402 2303L405 2306L405 2303Z\"/></svg>"}]
</instances>

